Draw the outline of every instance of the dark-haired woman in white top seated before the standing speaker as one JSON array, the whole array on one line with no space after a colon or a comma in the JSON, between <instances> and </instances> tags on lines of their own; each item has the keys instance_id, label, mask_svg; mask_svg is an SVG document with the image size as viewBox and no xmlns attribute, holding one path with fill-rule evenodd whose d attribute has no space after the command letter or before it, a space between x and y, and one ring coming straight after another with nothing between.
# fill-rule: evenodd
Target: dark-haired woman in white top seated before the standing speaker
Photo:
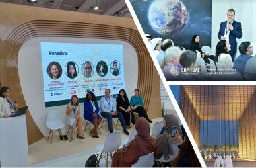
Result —
<instances>
[{"instance_id":1,"label":"dark-haired woman in white top seated before the standing speaker","mask_svg":"<svg viewBox=\"0 0 256 168\"><path fill-rule=\"evenodd\" d=\"M230 54L228 54L230 50L230 44L228 44L226 40L220 40L220 42L218 42L216 46L216 56L214 58L214 61L219 62L222 65L226 65L226 67L232 69L234 63Z\"/></svg>"}]
</instances>

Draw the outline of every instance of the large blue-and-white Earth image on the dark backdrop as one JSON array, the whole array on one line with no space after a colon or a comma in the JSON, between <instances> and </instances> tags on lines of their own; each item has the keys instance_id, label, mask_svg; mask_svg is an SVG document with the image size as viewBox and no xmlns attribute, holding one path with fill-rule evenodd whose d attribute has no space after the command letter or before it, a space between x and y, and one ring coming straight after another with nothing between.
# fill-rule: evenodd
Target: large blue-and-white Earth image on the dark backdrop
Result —
<instances>
[{"instance_id":1,"label":"large blue-and-white Earth image on the dark backdrop","mask_svg":"<svg viewBox=\"0 0 256 168\"><path fill-rule=\"evenodd\" d=\"M187 25L189 12L180 0L155 0L149 7L148 20L159 34L177 34Z\"/></svg>"}]
</instances>

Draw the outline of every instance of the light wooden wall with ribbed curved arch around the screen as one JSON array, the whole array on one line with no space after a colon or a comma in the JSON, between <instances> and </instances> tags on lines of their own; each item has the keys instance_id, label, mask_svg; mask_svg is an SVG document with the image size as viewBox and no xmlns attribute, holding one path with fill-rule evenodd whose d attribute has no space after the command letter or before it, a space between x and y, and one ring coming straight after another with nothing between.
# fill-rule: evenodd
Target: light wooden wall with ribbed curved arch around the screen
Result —
<instances>
[{"instance_id":1,"label":"light wooden wall with ribbed curved arch around the screen","mask_svg":"<svg viewBox=\"0 0 256 168\"><path fill-rule=\"evenodd\" d=\"M18 77L17 58L24 42L44 36L105 38L123 40L135 48L139 62L137 87L141 89L146 110L150 109L150 116L161 116L159 76L133 19L9 3L0 3L0 13L0 81L1 85L11 88L12 97L17 97L19 106L26 104ZM29 112L26 116L28 144L32 144L43 135Z\"/></svg>"}]
</instances>

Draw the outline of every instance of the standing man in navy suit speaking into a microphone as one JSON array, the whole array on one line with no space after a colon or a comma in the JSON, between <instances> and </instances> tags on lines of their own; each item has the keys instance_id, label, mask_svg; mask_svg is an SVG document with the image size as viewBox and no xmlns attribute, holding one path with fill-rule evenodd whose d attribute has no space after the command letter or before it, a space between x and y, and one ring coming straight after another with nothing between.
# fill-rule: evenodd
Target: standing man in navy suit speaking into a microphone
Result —
<instances>
[{"instance_id":1,"label":"standing man in navy suit speaking into a microphone","mask_svg":"<svg viewBox=\"0 0 256 168\"><path fill-rule=\"evenodd\" d=\"M226 40L231 45L230 55L233 62L237 48L236 38L242 38L242 25L240 22L234 20L235 15L236 12L234 9L229 9L227 13L228 21L220 23L220 30L218 32L218 38L220 40Z\"/></svg>"}]
</instances>

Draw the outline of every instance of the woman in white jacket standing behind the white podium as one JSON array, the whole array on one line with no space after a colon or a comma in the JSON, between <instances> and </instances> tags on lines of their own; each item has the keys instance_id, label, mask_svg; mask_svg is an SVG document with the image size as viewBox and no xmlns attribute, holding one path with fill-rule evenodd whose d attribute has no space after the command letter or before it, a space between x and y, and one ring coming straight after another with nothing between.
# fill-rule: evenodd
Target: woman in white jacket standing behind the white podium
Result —
<instances>
[{"instance_id":1,"label":"woman in white jacket standing behind the white podium","mask_svg":"<svg viewBox=\"0 0 256 168\"><path fill-rule=\"evenodd\" d=\"M0 89L0 118L8 118L11 114L15 114L17 103L13 104L9 99L11 90L4 86Z\"/></svg>"}]
</instances>

